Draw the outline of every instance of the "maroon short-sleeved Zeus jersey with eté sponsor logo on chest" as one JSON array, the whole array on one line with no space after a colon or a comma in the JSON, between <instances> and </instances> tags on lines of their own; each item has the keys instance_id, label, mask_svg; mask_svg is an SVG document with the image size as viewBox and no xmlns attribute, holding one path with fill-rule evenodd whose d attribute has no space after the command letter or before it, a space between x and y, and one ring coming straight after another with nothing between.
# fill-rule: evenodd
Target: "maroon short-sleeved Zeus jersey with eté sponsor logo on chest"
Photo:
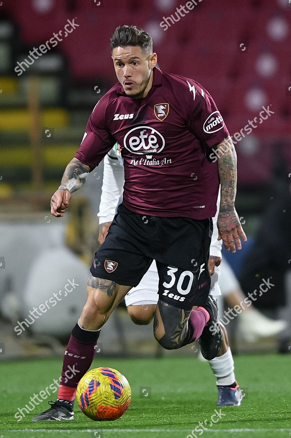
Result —
<instances>
[{"instance_id":1,"label":"maroon short-sleeved Zeus jersey with et\u00e9 sponsor logo on chest","mask_svg":"<svg viewBox=\"0 0 291 438\"><path fill-rule=\"evenodd\" d=\"M152 216L206 219L215 216L219 188L217 162L206 158L207 149L228 135L201 85L155 67L145 98L127 96L118 82L100 99L75 157L98 166L118 142L126 208Z\"/></svg>"}]
</instances>

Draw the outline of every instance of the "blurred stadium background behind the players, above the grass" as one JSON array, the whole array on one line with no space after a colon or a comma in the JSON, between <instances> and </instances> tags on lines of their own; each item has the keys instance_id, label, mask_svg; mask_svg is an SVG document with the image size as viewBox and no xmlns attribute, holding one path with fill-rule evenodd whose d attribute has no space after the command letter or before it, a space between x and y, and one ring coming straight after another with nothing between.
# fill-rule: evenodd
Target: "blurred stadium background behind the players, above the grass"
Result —
<instances>
[{"instance_id":1,"label":"blurred stadium background behind the players, above the grass","mask_svg":"<svg viewBox=\"0 0 291 438\"><path fill-rule=\"evenodd\" d=\"M237 330L239 316L228 326L231 345L235 352L290 353L290 1L197 0L179 20L176 0L0 3L0 358L62 356L86 300L88 269L98 247L102 165L73 195L63 219L50 215L49 201L90 112L116 82L109 39L123 24L149 32L159 67L200 82L230 134L240 133L234 137L236 209L249 240L241 253L224 256L245 294L255 289L256 278L261 283L277 276L276 291L254 304L289 326L279 336L250 342ZM78 26L64 37L68 20ZM166 30L160 25L165 20ZM29 51L60 30L62 41L25 67ZM25 71L15 71L20 65ZM263 107L271 111L265 120ZM14 328L29 311L64 291L68 279L79 286L17 335ZM152 325L134 325L122 305L102 330L99 345L98 353L107 356L197 354L191 347L160 350Z\"/></svg>"}]
</instances>

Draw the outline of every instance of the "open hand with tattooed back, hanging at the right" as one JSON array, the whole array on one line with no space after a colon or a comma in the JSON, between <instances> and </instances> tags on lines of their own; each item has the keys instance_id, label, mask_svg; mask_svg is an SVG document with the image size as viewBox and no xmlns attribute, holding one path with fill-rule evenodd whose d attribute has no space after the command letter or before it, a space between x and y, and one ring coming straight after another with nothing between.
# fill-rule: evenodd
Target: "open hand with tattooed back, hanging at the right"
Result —
<instances>
[{"instance_id":1,"label":"open hand with tattooed back, hanging at the right","mask_svg":"<svg viewBox=\"0 0 291 438\"><path fill-rule=\"evenodd\" d=\"M236 248L242 249L240 237L246 242L246 234L239 222L239 216L235 209L230 212L219 212L217 219L218 240L222 240L225 249L236 252Z\"/></svg>"}]
</instances>

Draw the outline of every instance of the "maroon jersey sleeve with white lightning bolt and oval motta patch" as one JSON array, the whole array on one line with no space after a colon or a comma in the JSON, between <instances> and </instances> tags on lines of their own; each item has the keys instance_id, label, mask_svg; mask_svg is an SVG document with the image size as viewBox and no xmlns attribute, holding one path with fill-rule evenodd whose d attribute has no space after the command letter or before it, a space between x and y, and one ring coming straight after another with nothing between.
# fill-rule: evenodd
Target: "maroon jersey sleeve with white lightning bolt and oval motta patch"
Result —
<instances>
[{"instance_id":1,"label":"maroon jersey sleeve with white lightning bolt and oval motta patch","mask_svg":"<svg viewBox=\"0 0 291 438\"><path fill-rule=\"evenodd\" d=\"M229 136L222 115L208 91L195 81L187 81L191 95L188 95L190 114L188 128L209 148L222 143ZM189 93L190 94L190 93Z\"/></svg>"}]
</instances>

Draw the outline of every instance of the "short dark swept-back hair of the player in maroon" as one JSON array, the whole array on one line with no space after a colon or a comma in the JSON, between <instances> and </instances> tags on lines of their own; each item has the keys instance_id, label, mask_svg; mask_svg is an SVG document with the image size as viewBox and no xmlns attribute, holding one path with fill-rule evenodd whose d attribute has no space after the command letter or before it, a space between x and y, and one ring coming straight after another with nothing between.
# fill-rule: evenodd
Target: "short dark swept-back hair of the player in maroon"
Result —
<instances>
[{"instance_id":1,"label":"short dark swept-back hair of the player in maroon","mask_svg":"<svg viewBox=\"0 0 291 438\"><path fill-rule=\"evenodd\" d=\"M145 52L152 53L152 37L136 26L118 26L110 39L111 53L115 47L139 46Z\"/></svg>"}]
</instances>

